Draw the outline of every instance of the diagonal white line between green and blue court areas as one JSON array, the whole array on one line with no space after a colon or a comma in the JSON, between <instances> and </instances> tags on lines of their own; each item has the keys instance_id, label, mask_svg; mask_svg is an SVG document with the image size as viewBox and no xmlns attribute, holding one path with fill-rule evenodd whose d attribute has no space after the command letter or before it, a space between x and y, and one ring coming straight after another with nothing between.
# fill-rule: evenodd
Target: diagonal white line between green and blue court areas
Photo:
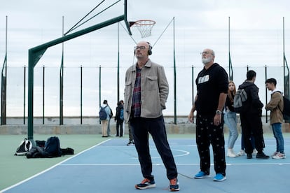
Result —
<instances>
[{"instance_id":1,"label":"diagonal white line between green and blue court areas","mask_svg":"<svg viewBox=\"0 0 290 193\"><path fill-rule=\"evenodd\" d=\"M43 170L43 171L41 171L39 173L36 173L33 176L30 176L29 178L26 178L25 180L20 181L19 183L15 183L14 185L11 185L10 187L6 187L4 190L0 190L0 192L5 192L7 190L11 190L13 187L16 187L18 185L21 185L22 183L26 183L28 180L31 180L33 178L36 178L37 176L40 176L41 174L46 173L47 171L50 171L51 169L54 169L56 166L60 166L62 163L67 162L69 159L72 159L72 158L74 158L74 157L76 157L78 155L81 155L84 152L86 152L86 151L88 151L88 150L90 150L92 148L95 148L98 145L102 145L102 143L105 143L105 142L110 141L110 140L111 140L111 138L109 138L109 139L107 139L105 141L102 141L100 143L97 143L96 145L93 145L92 147L90 147L90 148L88 148L86 150L83 150L83 151L79 152L78 154L76 154L74 156L71 156L71 157L68 157L67 159L62 160L62 162L59 162L59 163L57 163L57 164L55 164L53 166L50 166L48 169L45 169L45 170ZM39 158L39 159L42 159L42 158Z\"/></svg>"}]
</instances>

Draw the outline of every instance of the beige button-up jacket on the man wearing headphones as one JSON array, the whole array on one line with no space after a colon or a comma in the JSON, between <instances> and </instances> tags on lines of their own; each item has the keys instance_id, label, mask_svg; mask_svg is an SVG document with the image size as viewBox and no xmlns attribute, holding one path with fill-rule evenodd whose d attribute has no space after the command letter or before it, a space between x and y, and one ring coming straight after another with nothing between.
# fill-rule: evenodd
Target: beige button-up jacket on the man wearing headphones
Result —
<instances>
[{"instance_id":1,"label":"beige button-up jacket on the man wearing headphones","mask_svg":"<svg viewBox=\"0 0 290 193\"><path fill-rule=\"evenodd\" d=\"M131 113L132 95L136 80L136 65L134 64L126 71L124 98L125 122L128 122ZM165 103L168 93L169 87L163 66L151 62L149 59L141 70L141 117L160 117L162 110L166 108Z\"/></svg>"}]
</instances>

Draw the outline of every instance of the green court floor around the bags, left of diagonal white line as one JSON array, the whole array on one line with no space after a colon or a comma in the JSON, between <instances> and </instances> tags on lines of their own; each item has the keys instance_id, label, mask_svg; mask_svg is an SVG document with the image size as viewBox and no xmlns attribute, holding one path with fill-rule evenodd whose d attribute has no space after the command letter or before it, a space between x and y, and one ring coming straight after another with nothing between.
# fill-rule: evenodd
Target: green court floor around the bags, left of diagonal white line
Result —
<instances>
[{"instance_id":1,"label":"green court floor around the bags, left of diagonal white line","mask_svg":"<svg viewBox=\"0 0 290 193\"><path fill-rule=\"evenodd\" d=\"M44 140L51 135L34 135L34 140ZM104 141L99 135L57 135L60 138L61 148L73 148L74 154L78 154L97 143ZM62 162L72 155L63 157L27 159L25 156L15 156L15 150L27 135L0 135L0 190L14 185L30 176L34 176L45 169Z\"/></svg>"}]
</instances>

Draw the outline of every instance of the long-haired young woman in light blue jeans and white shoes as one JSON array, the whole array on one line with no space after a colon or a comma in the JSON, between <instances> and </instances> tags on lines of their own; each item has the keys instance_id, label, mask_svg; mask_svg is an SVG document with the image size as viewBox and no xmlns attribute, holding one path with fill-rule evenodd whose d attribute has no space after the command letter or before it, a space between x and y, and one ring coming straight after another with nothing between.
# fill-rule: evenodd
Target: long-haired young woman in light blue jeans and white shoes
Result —
<instances>
[{"instance_id":1,"label":"long-haired young woman in light blue jeans and white shoes","mask_svg":"<svg viewBox=\"0 0 290 193\"><path fill-rule=\"evenodd\" d=\"M237 157L233 150L235 141L237 141L237 136L239 136L239 133L237 132L237 114L235 113L235 109L233 108L233 99L235 97L235 92L235 83L232 80L228 81L228 96L226 97L226 108L224 114L225 123L228 125L227 157Z\"/></svg>"}]
</instances>

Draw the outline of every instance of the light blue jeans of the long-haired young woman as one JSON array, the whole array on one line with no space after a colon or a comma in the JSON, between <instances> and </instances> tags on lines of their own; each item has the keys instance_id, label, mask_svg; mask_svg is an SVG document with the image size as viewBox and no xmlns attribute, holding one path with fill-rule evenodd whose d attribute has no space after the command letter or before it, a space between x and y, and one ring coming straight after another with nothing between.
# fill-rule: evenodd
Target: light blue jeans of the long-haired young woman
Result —
<instances>
[{"instance_id":1,"label":"light blue jeans of the long-haired young woman","mask_svg":"<svg viewBox=\"0 0 290 193\"><path fill-rule=\"evenodd\" d=\"M235 112L228 111L224 115L226 125L228 125L228 148L232 149L237 141L237 115Z\"/></svg>"}]
</instances>

